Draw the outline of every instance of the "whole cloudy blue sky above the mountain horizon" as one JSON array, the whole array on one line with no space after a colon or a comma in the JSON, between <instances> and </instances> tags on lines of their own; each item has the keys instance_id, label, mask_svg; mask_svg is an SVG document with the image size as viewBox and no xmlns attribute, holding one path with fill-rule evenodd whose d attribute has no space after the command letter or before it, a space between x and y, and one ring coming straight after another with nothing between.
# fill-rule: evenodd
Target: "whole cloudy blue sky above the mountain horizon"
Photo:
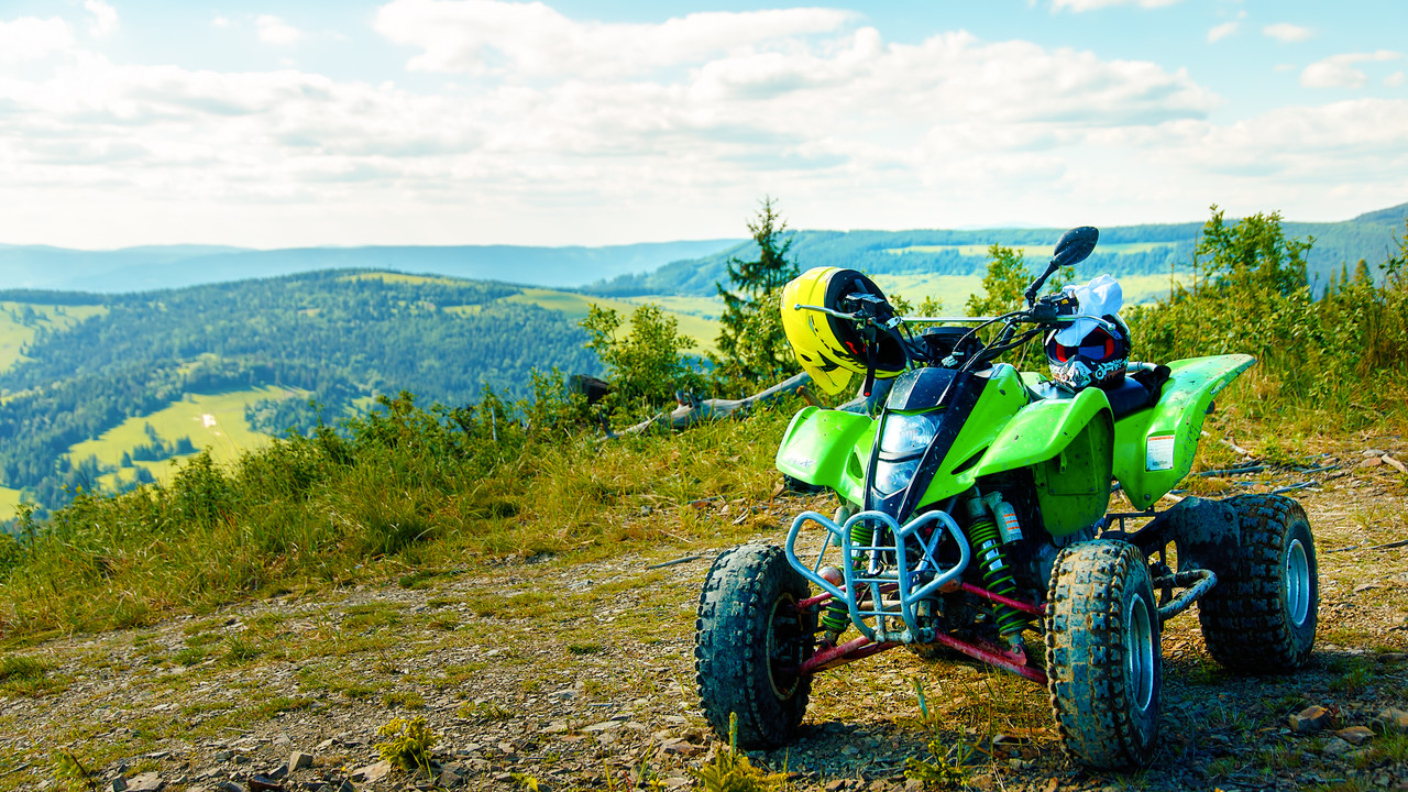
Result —
<instances>
[{"instance_id":1,"label":"whole cloudy blue sky above the mountain horizon","mask_svg":"<svg viewBox=\"0 0 1408 792\"><path fill-rule=\"evenodd\" d=\"M0 244L621 244L1408 202L1402 0L0 1Z\"/></svg>"}]
</instances>

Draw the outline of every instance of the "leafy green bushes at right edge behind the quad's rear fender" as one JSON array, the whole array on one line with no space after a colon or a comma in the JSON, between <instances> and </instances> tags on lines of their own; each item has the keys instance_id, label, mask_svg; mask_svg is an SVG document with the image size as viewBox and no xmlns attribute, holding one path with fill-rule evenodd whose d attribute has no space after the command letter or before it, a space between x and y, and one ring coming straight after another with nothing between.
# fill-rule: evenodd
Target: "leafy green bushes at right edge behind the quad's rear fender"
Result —
<instances>
[{"instance_id":1,"label":"leafy green bushes at right edge behind the quad's rear fender","mask_svg":"<svg viewBox=\"0 0 1408 792\"><path fill-rule=\"evenodd\" d=\"M1280 214L1228 223L1212 207L1197 247L1194 282L1153 306L1125 311L1135 355L1164 361L1245 352L1257 358L1243 389L1252 417L1315 414L1356 427L1404 414L1408 375L1408 242L1376 285L1359 275L1316 300L1305 275L1314 240L1288 240Z\"/></svg>"}]
</instances>

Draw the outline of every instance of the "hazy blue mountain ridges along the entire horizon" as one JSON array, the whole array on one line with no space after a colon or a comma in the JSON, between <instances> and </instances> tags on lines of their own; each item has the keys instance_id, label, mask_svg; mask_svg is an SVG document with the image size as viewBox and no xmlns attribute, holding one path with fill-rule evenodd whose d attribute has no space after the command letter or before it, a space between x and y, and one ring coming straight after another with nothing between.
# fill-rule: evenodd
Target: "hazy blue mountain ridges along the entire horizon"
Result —
<instances>
[{"instance_id":1,"label":"hazy blue mountain ridges along the entire horizon","mask_svg":"<svg viewBox=\"0 0 1408 792\"><path fill-rule=\"evenodd\" d=\"M1408 203L1339 223L1283 220L1287 234L1315 237L1312 280L1325 285L1340 265L1381 262L1404 231ZM1077 272L1149 275L1187 268L1202 223L1112 225ZM803 269L845 266L870 273L981 275L986 248L1050 247L1064 228L955 228L908 231L794 231L793 258ZM1033 261L1036 251L1028 249ZM77 251L0 244L0 289L130 293L276 278L328 269L391 269L577 289L600 296L712 296L731 256L756 255L750 240L721 238L608 247L380 245L258 251L222 245L146 245Z\"/></svg>"}]
</instances>

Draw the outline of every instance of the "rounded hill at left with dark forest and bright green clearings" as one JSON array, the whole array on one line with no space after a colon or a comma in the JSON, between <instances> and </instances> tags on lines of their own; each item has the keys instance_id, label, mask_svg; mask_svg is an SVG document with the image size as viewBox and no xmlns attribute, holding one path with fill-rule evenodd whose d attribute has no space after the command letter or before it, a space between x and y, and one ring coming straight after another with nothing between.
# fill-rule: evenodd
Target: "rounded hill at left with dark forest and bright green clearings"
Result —
<instances>
[{"instance_id":1,"label":"rounded hill at left with dark forest and bright green clearings","mask_svg":"<svg viewBox=\"0 0 1408 792\"><path fill-rule=\"evenodd\" d=\"M600 300L628 313L641 299ZM168 459L220 459L289 428L410 390L425 402L508 399L529 372L596 373L569 292L331 271L100 296L0 293L0 519L24 495L162 481ZM676 313L701 347L714 323Z\"/></svg>"}]
</instances>

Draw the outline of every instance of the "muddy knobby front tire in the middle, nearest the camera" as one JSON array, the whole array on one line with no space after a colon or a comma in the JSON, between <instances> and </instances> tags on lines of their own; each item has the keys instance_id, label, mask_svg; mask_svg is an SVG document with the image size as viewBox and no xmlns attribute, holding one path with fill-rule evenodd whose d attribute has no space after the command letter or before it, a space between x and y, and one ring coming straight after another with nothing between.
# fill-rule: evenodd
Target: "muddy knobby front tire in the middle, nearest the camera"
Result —
<instances>
[{"instance_id":1,"label":"muddy knobby front tire in the middle, nearest the camera","mask_svg":"<svg viewBox=\"0 0 1408 792\"><path fill-rule=\"evenodd\" d=\"M1046 675L1062 747L1094 768L1148 764L1159 738L1163 655L1139 550L1107 540L1067 547L1048 602Z\"/></svg>"}]
</instances>

